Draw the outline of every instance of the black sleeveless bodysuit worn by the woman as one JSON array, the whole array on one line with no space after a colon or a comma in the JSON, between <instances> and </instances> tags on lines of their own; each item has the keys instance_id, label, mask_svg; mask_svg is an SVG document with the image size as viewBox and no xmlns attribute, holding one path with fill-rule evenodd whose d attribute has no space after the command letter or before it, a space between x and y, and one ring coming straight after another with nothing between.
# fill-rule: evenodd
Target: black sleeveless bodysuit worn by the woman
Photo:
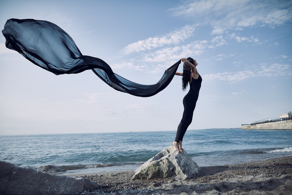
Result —
<instances>
[{"instance_id":1,"label":"black sleeveless bodysuit worn by the woman","mask_svg":"<svg viewBox=\"0 0 292 195\"><path fill-rule=\"evenodd\" d=\"M199 75L198 79L194 79L192 77L192 82L190 84L190 91L183 98L183 118L178 125L178 131L176 132L175 141L183 141L183 136L187 131L187 127L192 122L194 109L196 107L196 103L199 97L199 91L201 88L202 77Z\"/></svg>"}]
</instances>

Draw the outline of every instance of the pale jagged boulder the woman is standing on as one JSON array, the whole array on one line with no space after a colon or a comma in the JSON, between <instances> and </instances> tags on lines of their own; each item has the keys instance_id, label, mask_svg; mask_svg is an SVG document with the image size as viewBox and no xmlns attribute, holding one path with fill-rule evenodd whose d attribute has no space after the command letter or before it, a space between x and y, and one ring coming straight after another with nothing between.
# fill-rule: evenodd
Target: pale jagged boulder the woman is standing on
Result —
<instances>
[{"instance_id":1,"label":"pale jagged boulder the woman is standing on","mask_svg":"<svg viewBox=\"0 0 292 195\"><path fill-rule=\"evenodd\" d=\"M199 173L200 168L186 151L178 153L174 146L169 146L135 170L131 180L176 177L190 179Z\"/></svg>"}]
</instances>

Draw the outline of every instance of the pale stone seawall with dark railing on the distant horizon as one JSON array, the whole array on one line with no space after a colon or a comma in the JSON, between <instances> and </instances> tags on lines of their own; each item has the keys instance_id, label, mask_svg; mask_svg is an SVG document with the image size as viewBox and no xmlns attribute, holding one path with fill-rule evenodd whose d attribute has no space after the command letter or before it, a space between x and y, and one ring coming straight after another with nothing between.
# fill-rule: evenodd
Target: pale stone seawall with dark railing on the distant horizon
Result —
<instances>
[{"instance_id":1,"label":"pale stone seawall with dark railing on the distant horizon","mask_svg":"<svg viewBox=\"0 0 292 195\"><path fill-rule=\"evenodd\" d=\"M251 124L242 124L241 130L292 130L292 117L289 114L280 114L277 119L263 119Z\"/></svg>"}]
</instances>

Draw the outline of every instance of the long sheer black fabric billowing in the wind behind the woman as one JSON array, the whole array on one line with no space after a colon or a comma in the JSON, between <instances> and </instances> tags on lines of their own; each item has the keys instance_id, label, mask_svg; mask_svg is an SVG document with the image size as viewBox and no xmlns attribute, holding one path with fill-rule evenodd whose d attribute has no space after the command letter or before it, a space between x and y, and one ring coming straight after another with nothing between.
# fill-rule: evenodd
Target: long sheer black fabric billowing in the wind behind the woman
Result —
<instances>
[{"instance_id":1,"label":"long sheer black fabric billowing in the wind behind the woman","mask_svg":"<svg viewBox=\"0 0 292 195\"><path fill-rule=\"evenodd\" d=\"M150 97L165 89L181 62L179 60L168 68L156 84L143 85L113 73L102 59L83 56L69 34L51 22L10 19L2 33L7 48L18 51L32 63L56 75L91 69L110 87L140 97Z\"/></svg>"}]
</instances>

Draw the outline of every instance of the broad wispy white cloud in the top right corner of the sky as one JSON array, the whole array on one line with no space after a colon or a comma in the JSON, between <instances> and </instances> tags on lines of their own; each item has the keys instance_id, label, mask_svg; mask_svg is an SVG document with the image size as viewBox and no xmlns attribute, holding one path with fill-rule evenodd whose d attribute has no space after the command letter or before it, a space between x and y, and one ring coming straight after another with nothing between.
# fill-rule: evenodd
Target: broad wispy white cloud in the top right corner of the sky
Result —
<instances>
[{"instance_id":1,"label":"broad wispy white cloud in the top right corner of the sky","mask_svg":"<svg viewBox=\"0 0 292 195\"><path fill-rule=\"evenodd\" d=\"M291 1L284 0L272 3L265 0L185 1L171 11L176 16L211 23L215 27L212 34L222 34L224 28L242 30L253 26L274 27L292 19Z\"/></svg>"}]
</instances>

